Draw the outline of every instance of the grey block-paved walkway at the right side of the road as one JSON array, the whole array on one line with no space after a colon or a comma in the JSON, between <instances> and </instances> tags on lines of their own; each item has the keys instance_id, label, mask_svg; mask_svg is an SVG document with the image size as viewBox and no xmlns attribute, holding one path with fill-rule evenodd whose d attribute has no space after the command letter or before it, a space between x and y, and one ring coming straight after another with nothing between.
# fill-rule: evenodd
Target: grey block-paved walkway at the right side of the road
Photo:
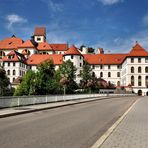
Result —
<instances>
[{"instance_id":1,"label":"grey block-paved walkway at the right side of the road","mask_svg":"<svg viewBox=\"0 0 148 148\"><path fill-rule=\"evenodd\" d=\"M138 100L101 148L148 148L148 97Z\"/></svg>"}]
</instances>

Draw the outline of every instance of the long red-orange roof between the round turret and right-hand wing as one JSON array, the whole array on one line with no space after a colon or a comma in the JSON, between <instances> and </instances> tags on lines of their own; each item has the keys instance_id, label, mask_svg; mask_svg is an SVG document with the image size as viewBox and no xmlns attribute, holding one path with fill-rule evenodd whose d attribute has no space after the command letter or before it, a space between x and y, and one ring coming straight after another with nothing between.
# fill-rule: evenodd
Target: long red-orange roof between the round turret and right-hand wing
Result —
<instances>
[{"instance_id":1,"label":"long red-orange roof between the round turret and right-hand wing","mask_svg":"<svg viewBox=\"0 0 148 148\"><path fill-rule=\"evenodd\" d=\"M127 54L84 54L84 59L89 64L121 64Z\"/></svg>"}]
</instances>

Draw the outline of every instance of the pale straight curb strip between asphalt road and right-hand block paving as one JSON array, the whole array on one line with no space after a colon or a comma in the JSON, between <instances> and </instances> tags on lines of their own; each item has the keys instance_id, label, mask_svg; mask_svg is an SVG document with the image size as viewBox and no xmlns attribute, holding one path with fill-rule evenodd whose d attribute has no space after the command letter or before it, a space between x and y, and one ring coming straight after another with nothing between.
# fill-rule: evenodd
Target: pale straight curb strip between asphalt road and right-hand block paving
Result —
<instances>
[{"instance_id":1,"label":"pale straight curb strip between asphalt road and right-hand block paving","mask_svg":"<svg viewBox=\"0 0 148 148\"><path fill-rule=\"evenodd\" d=\"M125 118L125 116L130 112L130 110L139 100L140 99L136 100L130 106L130 108L96 141L96 143L93 146L91 146L91 148L100 148L104 141L110 136L110 134L115 130L115 128L119 125L119 123Z\"/></svg>"}]
</instances>

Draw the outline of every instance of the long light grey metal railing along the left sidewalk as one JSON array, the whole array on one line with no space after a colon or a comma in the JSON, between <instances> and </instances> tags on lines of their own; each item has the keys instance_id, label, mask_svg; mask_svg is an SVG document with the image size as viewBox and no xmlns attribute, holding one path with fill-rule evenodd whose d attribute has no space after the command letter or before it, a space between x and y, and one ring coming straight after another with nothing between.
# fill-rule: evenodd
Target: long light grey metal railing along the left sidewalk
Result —
<instances>
[{"instance_id":1,"label":"long light grey metal railing along the left sidewalk","mask_svg":"<svg viewBox=\"0 0 148 148\"><path fill-rule=\"evenodd\" d=\"M0 108L26 106L58 101L70 101L85 98L106 97L106 96L129 96L133 94L73 94L73 95L46 95L46 96L5 96L0 97Z\"/></svg>"}]
</instances>

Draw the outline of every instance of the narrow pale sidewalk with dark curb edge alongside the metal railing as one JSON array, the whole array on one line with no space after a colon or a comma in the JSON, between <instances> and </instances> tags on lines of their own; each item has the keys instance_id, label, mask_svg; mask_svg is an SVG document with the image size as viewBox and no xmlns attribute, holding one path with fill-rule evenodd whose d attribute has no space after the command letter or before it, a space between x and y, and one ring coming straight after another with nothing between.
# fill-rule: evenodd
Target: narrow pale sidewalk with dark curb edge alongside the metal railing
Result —
<instances>
[{"instance_id":1,"label":"narrow pale sidewalk with dark curb edge alongside the metal railing","mask_svg":"<svg viewBox=\"0 0 148 148\"><path fill-rule=\"evenodd\" d=\"M57 108L62 106L68 106L73 104L80 104L85 102L102 100L102 99L109 99L109 97L98 97L98 98L90 98L90 99L80 99L80 100L73 100L73 101L64 101L64 102L0 109L0 118L19 115L19 114L25 114L25 113L31 113L31 112L36 112L36 111L41 111L41 110L46 110L51 108Z\"/></svg>"}]
</instances>

